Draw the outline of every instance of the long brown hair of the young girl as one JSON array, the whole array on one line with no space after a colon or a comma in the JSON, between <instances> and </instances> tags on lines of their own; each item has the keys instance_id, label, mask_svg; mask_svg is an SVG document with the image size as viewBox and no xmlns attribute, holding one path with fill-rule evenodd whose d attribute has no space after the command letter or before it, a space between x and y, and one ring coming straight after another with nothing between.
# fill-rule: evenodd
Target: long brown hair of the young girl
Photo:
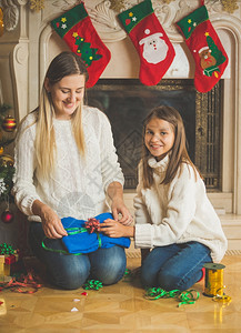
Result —
<instances>
[{"instance_id":1,"label":"long brown hair of the young girl","mask_svg":"<svg viewBox=\"0 0 241 333\"><path fill-rule=\"evenodd\" d=\"M197 172L200 174L199 170L192 163L188 150L187 150L187 139L185 139L185 131L184 124L180 113L172 107L161 105L154 108L144 120L143 127L143 141L142 141L142 165L143 165L143 186L144 189L150 189L153 184L153 169L149 165L148 160L152 157L150 151L144 144L144 135L145 135L145 128L151 119L158 118L164 121L168 121L173 125L174 129L174 143L169 152L169 164L167 168L165 176L162 184L170 183L173 178L177 175L178 171L182 170L182 163L190 164L195 174ZM201 176L201 174L200 174Z\"/></svg>"}]
</instances>

